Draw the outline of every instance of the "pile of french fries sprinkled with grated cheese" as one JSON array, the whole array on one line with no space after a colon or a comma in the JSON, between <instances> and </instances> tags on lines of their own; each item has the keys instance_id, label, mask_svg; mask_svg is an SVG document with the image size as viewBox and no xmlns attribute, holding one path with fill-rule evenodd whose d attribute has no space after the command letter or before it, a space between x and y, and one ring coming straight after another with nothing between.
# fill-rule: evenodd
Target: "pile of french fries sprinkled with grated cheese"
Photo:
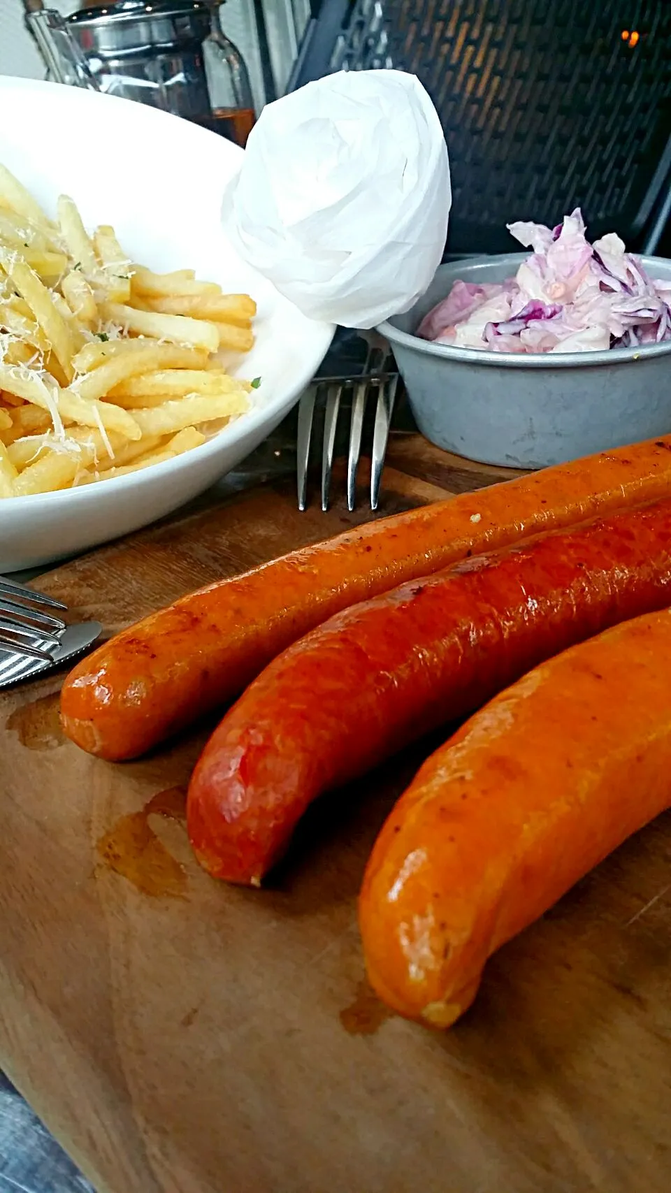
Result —
<instances>
[{"instance_id":1,"label":"pile of french fries sprinkled with grated cheese","mask_svg":"<svg viewBox=\"0 0 671 1193\"><path fill-rule=\"evenodd\" d=\"M0 166L0 497L123 476L197 447L250 407L256 303L192 270L133 264L61 196L51 222Z\"/></svg>"}]
</instances>

